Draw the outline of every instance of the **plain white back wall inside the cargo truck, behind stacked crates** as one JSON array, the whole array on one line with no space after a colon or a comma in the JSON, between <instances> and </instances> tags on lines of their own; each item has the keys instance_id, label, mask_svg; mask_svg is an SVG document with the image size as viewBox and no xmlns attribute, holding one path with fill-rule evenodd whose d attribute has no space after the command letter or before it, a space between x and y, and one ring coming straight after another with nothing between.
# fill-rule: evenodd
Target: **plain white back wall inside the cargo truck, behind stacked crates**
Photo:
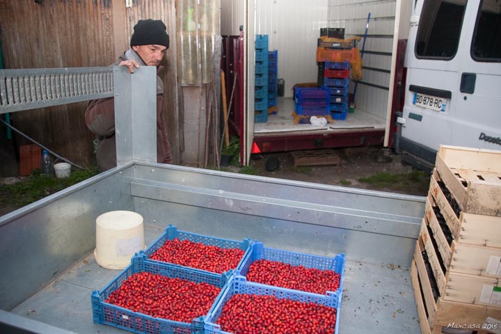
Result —
<instances>
[{"instance_id":1,"label":"plain white back wall inside the cargo truck, behind stacked crates","mask_svg":"<svg viewBox=\"0 0 501 334\"><path fill-rule=\"evenodd\" d=\"M317 39L327 26L328 0L256 0L256 33L278 50L278 77L285 96L294 84L317 82Z\"/></svg>"}]
</instances>

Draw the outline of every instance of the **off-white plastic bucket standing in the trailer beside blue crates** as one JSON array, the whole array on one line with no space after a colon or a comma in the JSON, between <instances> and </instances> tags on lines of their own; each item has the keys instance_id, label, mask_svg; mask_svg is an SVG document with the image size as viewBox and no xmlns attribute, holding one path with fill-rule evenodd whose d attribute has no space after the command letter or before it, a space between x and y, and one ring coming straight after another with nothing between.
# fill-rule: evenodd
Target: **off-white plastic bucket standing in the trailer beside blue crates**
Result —
<instances>
[{"instance_id":1,"label":"off-white plastic bucket standing in the trailer beside blue crates","mask_svg":"<svg viewBox=\"0 0 501 334\"><path fill-rule=\"evenodd\" d=\"M144 249L141 214L111 211L97 217L94 256L101 267L124 269L130 264L132 256Z\"/></svg>"}]
</instances>

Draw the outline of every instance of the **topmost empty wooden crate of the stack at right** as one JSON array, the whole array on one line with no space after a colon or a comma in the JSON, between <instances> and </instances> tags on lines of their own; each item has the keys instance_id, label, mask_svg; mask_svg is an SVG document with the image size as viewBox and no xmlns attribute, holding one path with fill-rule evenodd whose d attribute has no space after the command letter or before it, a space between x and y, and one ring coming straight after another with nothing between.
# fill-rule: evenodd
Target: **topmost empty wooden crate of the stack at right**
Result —
<instances>
[{"instance_id":1,"label":"topmost empty wooden crate of the stack at right","mask_svg":"<svg viewBox=\"0 0 501 334\"><path fill-rule=\"evenodd\" d=\"M501 151L442 145L435 166L463 212L501 216Z\"/></svg>"}]
</instances>

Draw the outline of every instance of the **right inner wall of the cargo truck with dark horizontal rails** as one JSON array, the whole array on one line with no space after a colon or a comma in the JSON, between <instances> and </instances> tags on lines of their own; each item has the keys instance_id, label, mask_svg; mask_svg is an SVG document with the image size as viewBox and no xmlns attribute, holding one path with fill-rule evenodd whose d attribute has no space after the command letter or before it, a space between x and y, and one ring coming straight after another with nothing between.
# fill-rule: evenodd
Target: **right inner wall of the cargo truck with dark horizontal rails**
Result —
<instances>
[{"instance_id":1,"label":"right inner wall of the cargo truck with dark horizontal rails","mask_svg":"<svg viewBox=\"0 0 501 334\"><path fill-rule=\"evenodd\" d=\"M367 16L371 15L365 51L363 79L356 90L356 109L386 118L388 88L395 29L395 0L329 0L328 26L344 28L345 37L363 38ZM363 40L358 47L362 49ZM351 83L353 92L353 83Z\"/></svg>"}]
</instances>

